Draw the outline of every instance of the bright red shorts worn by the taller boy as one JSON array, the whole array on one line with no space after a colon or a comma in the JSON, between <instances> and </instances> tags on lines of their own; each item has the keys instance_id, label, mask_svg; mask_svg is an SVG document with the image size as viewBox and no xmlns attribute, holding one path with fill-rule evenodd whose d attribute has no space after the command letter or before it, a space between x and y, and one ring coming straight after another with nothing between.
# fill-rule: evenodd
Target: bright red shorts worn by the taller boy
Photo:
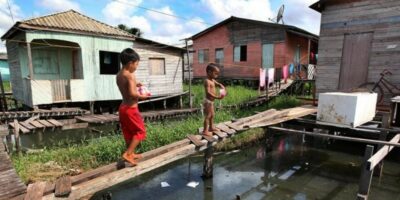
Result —
<instances>
[{"instance_id":1,"label":"bright red shorts worn by the taller boy","mask_svg":"<svg viewBox=\"0 0 400 200\"><path fill-rule=\"evenodd\" d=\"M139 141L146 139L146 128L138 107L121 104L118 112L122 133L127 144L130 144L132 139Z\"/></svg>"}]
</instances>

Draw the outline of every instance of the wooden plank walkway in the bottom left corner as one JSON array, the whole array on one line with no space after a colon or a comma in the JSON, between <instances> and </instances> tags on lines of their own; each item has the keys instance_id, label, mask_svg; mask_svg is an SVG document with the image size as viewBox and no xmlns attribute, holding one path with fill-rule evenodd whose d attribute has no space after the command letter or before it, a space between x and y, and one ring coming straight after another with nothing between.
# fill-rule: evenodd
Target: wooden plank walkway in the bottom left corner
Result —
<instances>
[{"instance_id":1,"label":"wooden plank walkway in the bottom left corner","mask_svg":"<svg viewBox=\"0 0 400 200\"><path fill-rule=\"evenodd\" d=\"M25 192L26 186L12 166L3 138L0 137L0 200L8 200Z\"/></svg>"}]
</instances>

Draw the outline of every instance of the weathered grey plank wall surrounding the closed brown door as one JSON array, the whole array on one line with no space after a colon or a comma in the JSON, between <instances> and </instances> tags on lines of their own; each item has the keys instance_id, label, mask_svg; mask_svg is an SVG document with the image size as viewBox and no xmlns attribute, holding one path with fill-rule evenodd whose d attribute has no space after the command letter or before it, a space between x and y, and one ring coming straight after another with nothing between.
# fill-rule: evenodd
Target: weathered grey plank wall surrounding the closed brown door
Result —
<instances>
[{"instance_id":1,"label":"weathered grey plank wall surrounding the closed brown door","mask_svg":"<svg viewBox=\"0 0 400 200\"><path fill-rule=\"evenodd\" d=\"M377 81L383 69L400 84L400 1L364 0L326 6L322 11L317 92L335 91L339 84L344 35L373 32L368 81Z\"/></svg>"}]
</instances>

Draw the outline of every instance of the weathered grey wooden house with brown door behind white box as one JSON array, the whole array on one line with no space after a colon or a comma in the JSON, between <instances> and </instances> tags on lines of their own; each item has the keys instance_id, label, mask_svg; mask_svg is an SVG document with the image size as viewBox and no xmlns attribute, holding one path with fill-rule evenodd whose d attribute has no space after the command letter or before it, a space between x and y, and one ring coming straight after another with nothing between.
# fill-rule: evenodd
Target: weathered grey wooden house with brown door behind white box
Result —
<instances>
[{"instance_id":1,"label":"weathered grey wooden house with brown door behind white box","mask_svg":"<svg viewBox=\"0 0 400 200\"><path fill-rule=\"evenodd\" d=\"M320 0L317 92L375 82L384 69L400 84L400 1Z\"/></svg>"}]
</instances>

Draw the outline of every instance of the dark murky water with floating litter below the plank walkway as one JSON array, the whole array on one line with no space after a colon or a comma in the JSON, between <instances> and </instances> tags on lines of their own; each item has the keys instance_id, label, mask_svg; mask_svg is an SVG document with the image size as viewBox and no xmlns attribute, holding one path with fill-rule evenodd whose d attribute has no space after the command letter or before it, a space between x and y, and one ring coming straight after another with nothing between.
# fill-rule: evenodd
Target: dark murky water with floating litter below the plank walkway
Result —
<instances>
[{"instance_id":1,"label":"dark murky water with floating litter below the plank walkway","mask_svg":"<svg viewBox=\"0 0 400 200\"><path fill-rule=\"evenodd\" d=\"M92 199L355 199L365 145L275 135L240 151L217 153L202 180L202 155L185 158L99 192ZM352 154L348 153L352 152ZM370 199L400 199L400 153L374 177ZM161 182L170 186L162 187ZM196 187L188 183L198 183ZM196 185L196 184L195 184Z\"/></svg>"}]
</instances>

